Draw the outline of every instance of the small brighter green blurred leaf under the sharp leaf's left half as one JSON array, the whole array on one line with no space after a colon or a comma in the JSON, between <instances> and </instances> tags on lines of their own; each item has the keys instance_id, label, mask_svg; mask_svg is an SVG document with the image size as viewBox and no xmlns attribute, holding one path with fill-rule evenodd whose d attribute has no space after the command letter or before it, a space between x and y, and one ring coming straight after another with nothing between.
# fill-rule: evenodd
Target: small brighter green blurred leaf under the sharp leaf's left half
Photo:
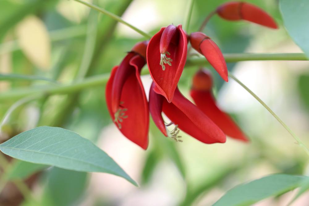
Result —
<instances>
[{"instance_id":1,"label":"small brighter green blurred leaf under the sharp leaf's left half","mask_svg":"<svg viewBox=\"0 0 309 206\"><path fill-rule=\"evenodd\" d=\"M46 169L47 165L35 164L31 162L24 162L16 160L8 174L6 174L6 179L25 179L28 178L31 174L38 172L40 170Z\"/></svg>"}]
</instances>

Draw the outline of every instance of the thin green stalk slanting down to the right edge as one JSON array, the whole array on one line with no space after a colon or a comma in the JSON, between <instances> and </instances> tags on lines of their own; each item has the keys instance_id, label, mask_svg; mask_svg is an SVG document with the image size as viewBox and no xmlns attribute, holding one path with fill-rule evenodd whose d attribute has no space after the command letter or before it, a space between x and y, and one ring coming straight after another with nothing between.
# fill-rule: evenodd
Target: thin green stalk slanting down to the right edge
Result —
<instances>
[{"instance_id":1,"label":"thin green stalk slanting down to the right edge","mask_svg":"<svg viewBox=\"0 0 309 206\"><path fill-rule=\"evenodd\" d=\"M263 107L265 107L269 111L269 113L271 113L276 118L276 120L286 129L286 131L290 133L290 135L297 141L298 145L300 145L305 150L307 155L309 155L309 149L306 147L303 141L299 137L297 137L297 135L275 114L275 112L273 112L273 110L269 108L269 106L267 106L267 104L265 104L265 102L263 102L256 94L254 94L247 86L240 82L233 74L229 74L229 76L245 90L247 90L259 103L261 103Z\"/></svg>"}]
</instances>

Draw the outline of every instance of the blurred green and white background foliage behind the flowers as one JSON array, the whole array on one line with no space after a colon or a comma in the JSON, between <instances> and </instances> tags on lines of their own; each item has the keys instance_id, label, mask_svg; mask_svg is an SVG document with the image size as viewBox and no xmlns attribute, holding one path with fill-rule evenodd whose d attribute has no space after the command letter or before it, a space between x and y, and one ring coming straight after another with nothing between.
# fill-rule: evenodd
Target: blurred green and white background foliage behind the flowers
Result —
<instances>
[{"instance_id":1,"label":"blurred green and white background foliage behind the flowers","mask_svg":"<svg viewBox=\"0 0 309 206\"><path fill-rule=\"evenodd\" d=\"M187 1L179 0L88 2L122 16L151 34L171 23L182 24L188 6ZM222 2L226 1L196 0L187 32L197 31L204 18ZM227 22L214 16L204 32L223 53L301 52L282 25L276 0L246 2L270 13L279 24L279 30L243 21ZM72 0L0 1L0 74L35 75L53 79L56 84L83 81L86 77L108 74L141 40L145 39L129 27ZM308 67L308 62L299 61L228 64L229 71L260 96L307 145ZM191 78L197 69L185 68L179 82L188 98ZM104 86L85 88L69 95L46 94L24 104L2 127L0 140L3 142L41 125L67 128L97 144L140 184L134 187L110 174L86 174L51 167L30 176L35 195L42 205L50 206L211 205L235 185L266 174L308 174L306 154L265 108L233 80L223 83L218 74L213 74L218 104L250 137L250 143L228 139L225 144L205 145L185 134L182 134L183 142L176 143L151 124L150 146L143 151L112 124ZM147 93L151 78L145 75L142 80ZM42 80L0 80L0 92L53 84L55 82ZM16 101L1 100L0 118ZM0 205L18 205L12 200L18 196L18 191L8 184L0 194ZM256 205L284 205L292 196L290 192ZM307 194L293 205L308 202Z\"/></svg>"}]
</instances>

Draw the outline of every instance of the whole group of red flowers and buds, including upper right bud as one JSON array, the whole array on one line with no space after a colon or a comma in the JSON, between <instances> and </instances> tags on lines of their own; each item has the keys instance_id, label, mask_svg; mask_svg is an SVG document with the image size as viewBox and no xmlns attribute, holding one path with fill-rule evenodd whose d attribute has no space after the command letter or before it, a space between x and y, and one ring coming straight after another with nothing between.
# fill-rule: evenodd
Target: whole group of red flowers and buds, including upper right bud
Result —
<instances>
[{"instance_id":1,"label":"whole group of red flowers and buds, including upper right bud","mask_svg":"<svg viewBox=\"0 0 309 206\"><path fill-rule=\"evenodd\" d=\"M267 13L245 2L227 2L216 13L226 20L243 19L277 28ZM136 44L112 69L105 93L108 111L122 134L143 149L148 146L149 112L159 130L175 141L182 141L180 130L206 144L224 143L226 135L248 141L231 117L216 105L209 72L201 69L193 77L190 95L195 104L180 93L177 84L186 63L188 42L228 82L220 48L204 33L188 35L181 25L161 28L149 41ZM145 64L153 80L149 102L140 78ZM163 113L171 123L164 121ZM174 125L171 131L167 129L170 125Z\"/></svg>"}]
</instances>

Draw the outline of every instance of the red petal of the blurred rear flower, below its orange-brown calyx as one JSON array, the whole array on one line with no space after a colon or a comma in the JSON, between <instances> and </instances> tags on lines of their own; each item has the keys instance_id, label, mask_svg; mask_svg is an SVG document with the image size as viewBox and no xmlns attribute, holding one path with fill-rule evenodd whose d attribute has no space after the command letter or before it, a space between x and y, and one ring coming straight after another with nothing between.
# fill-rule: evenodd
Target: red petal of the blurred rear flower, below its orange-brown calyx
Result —
<instances>
[{"instance_id":1,"label":"red petal of the blurred rear flower, below its orange-brown calyx","mask_svg":"<svg viewBox=\"0 0 309 206\"><path fill-rule=\"evenodd\" d=\"M214 121L227 136L242 141L248 141L248 138L243 134L231 117L217 107L211 90L201 91L192 89L190 95L197 107Z\"/></svg>"}]
</instances>

